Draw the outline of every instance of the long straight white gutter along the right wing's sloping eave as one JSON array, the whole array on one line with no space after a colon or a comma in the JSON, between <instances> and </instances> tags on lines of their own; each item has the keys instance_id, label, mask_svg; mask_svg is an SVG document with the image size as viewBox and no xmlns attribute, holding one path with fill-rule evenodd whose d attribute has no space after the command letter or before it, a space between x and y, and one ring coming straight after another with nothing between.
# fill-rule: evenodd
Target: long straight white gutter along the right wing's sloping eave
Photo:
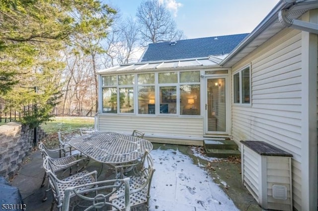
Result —
<instances>
[{"instance_id":1,"label":"long straight white gutter along the right wing's sloping eave","mask_svg":"<svg viewBox=\"0 0 318 211\"><path fill-rule=\"evenodd\" d=\"M237 55L242 49L250 44L257 36L265 31L271 24L277 20L277 13L284 8L288 8L293 5L296 0L280 0L275 7L269 12L269 14L256 26L256 28L227 56L221 61L220 66L225 65L235 55Z\"/></svg>"}]
</instances>

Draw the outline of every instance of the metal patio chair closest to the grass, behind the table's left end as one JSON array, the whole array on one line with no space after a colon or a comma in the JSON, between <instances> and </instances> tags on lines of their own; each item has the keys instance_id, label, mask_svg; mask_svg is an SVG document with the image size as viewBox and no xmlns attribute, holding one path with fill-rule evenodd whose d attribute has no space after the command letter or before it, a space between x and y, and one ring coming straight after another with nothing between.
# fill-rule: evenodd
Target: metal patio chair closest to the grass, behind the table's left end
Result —
<instances>
[{"instance_id":1,"label":"metal patio chair closest to the grass, behind the table's left end","mask_svg":"<svg viewBox=\"0 0 318 211\"><path fill-rule=\"evenodd\" d=\"M66 130L66 131L59 131L58 132L58 137L59 137L59 147L60 149L64 149L63 153L64 153L64 157L66 156L66 154L68 154L68 152L70 153L70 155L72 155L72 147L69 145L69 141L74 138L74 137L78 137L78 136L82 136L82 130L81 129L74 129L74 130ZM65 148L69 148L70 150L65 150ZM80 154L79 152L77 154ZM60 158L61 158L61 153L60 153Z\"/></svg>"}]
</instances>

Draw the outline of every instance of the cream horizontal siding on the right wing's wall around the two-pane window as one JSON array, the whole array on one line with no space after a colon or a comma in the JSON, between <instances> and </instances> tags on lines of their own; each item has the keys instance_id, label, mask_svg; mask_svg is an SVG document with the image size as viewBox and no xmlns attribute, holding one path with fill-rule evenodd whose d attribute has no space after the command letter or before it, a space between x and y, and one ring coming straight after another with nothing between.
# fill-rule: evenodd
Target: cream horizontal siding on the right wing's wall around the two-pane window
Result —
<instances>
[{"instance_id":1,"label":"cream horizontal siding on the right wing's wall around the two-pane window","mask_svg":"<svg viewBox=\"0 0 318 211\"><path fill-rule=\"evenodd\" d=\"M294 207L301 205L301 33L285 29L240 60L251 63L252 106L232 106L234 140L266 141L293 155Z\"/></svg>"}]
</instances>

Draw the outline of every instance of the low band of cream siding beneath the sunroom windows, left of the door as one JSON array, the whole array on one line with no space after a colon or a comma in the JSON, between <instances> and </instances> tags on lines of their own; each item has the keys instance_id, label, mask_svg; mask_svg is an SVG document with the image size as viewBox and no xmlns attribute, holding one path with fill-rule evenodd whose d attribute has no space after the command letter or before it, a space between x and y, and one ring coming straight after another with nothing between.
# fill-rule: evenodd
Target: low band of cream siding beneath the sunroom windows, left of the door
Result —
<instances>
[{"instance_id":1,"label":"low band of cream siding beneath the sunroom windows, left of the door","mask_svg":"<svg viewBox=\"0 0 318 211\"><path fill-rule=\"evenodd\" d=\"M143 131L145 136L175 139L203 138L202 117L164 117L164 116L122 116L99 115L100 131L131 133L134 129Z\"/></svg>"}]
</instances>

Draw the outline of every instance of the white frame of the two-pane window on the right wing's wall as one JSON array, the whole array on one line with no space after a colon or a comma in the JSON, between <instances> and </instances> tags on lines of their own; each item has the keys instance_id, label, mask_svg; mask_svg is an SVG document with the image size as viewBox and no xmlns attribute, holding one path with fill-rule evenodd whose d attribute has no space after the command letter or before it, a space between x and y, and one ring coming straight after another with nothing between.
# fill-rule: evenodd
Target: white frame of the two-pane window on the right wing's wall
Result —
<instances>
[{"instance_id":1,"label":"white frame of the two-pane window on the right wing's wall","mask_svg":"<svg viewBox=\"0 0 318 211\"><path fill-rule=\"evenodd\" d=\"M242 90L242 72L246 69L249 69L249 103L243 103L243 90ZM252 73L252 68L251 68L251 64L248 64L248 65L245 65L243 66L242 68L240 68L238 71L235 71L233 74L232 74L232 93L233 93L233 104L234 105L238 105L238 106L251 106L252 105L252 77L251 77L251 73ZM235 92L236 92L236 87L235 87L235 82L234 82L234 78L235 78L235 75L239 74L239 103L236 103L236 100L235 100Z\"/></svg>"}]
</instances>

